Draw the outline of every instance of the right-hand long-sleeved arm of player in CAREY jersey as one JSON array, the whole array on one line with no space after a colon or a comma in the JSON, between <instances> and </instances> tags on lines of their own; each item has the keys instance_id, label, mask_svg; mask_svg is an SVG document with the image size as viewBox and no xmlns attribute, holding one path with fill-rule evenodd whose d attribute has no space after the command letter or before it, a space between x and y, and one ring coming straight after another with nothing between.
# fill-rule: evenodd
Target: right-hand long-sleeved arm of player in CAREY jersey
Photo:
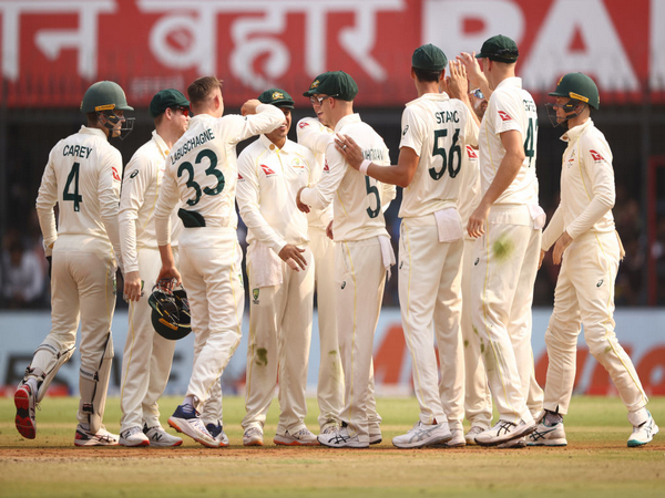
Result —
<instances>
[{"instance_id":1,"label":"right-hand long-sleeved arm of player in CAREY jersey","mask_svg":"<svg viewBox=\"0 0 665 498\"><path fill-rule=\"evenodd\" d=\"M120 151L113 148L101 158L98 176L98 196L100 200L100 216L113 252L121 271L124 271L120 248L120 232L117 229L117 211L120 210L120 173L122 172L122 156Z\"/></svg>"}]
</instances>

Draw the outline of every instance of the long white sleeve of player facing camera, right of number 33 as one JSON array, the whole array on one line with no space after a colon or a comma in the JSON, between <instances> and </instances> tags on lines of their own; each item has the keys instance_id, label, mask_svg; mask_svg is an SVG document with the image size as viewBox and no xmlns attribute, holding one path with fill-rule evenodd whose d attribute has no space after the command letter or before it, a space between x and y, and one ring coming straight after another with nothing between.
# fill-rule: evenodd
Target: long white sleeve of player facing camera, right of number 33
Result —
<instances>
[{"instance_id":1,"label":"long white sleeve of player facing camera, right of number 33","mask_svg":"<svg viewBox=\"0 0 665 498\"><path fill-rule=\"evenodd\" d=\"M286 246L284 240L266 221L260 214L260 185L258 183L258 170L249 154L249 149L243 151L238 157L238 173L243 179L238 179L236 187L236 199L241 217L256 239L279 253Z\"/></svg>"}]
</instances>

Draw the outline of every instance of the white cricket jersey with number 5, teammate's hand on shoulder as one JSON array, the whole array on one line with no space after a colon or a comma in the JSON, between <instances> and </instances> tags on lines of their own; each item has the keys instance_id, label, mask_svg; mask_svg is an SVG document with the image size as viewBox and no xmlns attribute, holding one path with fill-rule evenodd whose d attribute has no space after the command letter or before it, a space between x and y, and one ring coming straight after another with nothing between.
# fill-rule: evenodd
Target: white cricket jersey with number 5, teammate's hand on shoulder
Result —
<instances>
[{"instance_id":1,"label":"white cricket jersey with number 5, teammate's hand on shoulder","mask_svg":"<svg viewBox=\"0 0 665 498\"><path fill-rule=\"evenodd\" d=\"M390 165L383 139L360 121L359 114L342 117L335 126L335 133L354 138L366 159L380 166ZM328 169L324 168L321 179L314 188L303 190L300 200L314 208L323 208L335 198L332 235L336 241L388 236L382 208L395 198L395 186L383 185L350 167L334 142L326 149L326 162Z\"/></svg>"}]
</instances>

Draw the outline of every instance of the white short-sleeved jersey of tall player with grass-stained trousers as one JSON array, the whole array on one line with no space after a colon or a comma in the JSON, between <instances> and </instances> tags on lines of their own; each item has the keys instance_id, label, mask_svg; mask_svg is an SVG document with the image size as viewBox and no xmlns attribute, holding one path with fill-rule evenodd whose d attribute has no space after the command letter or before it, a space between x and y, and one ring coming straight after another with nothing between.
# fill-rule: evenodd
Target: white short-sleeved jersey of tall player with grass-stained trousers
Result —
<instances>
[{"instance_id":1,"label":"white short-sleeved jersey of tall player with grass-stained trousers","mask_svg":"<svg viewBox=\"0 0 665 498\"><path fill-rule=\"evenodd\" d=\"M499 83L490 96L488 110L480 124L482 195L490 188L501 160L505 156L501 134L511 129L516 129L522 134L526 157L513 183L494 204L538 204L538 178L535 176L538 111L531 94L522 90L521 77L508 77Z\"/></svg>"}]
</instances>

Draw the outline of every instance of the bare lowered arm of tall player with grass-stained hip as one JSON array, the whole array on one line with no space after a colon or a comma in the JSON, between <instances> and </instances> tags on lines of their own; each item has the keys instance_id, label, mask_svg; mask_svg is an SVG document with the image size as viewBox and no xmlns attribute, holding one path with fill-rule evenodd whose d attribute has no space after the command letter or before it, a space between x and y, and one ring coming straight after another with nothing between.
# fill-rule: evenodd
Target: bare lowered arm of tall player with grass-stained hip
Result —
<instances>
[{"instance_id":1,"label":"bare lowered arm of tall player with grass-stained hip","mask_svg":"<svg viewBox=\"0 0 665 498\"><path fill-rule=\"evenodd\" d=\"M501 159L497 175L488 191L485 191L480 204L469 217L467 231L471 237L480 237L484 234L484 222L490 214L490 208L516 178L522 163L526 157L524 155L522 133L518 129L509 129L501 133L501 143L505 149L505 155Z\"/></svg>"}]
</instances>

